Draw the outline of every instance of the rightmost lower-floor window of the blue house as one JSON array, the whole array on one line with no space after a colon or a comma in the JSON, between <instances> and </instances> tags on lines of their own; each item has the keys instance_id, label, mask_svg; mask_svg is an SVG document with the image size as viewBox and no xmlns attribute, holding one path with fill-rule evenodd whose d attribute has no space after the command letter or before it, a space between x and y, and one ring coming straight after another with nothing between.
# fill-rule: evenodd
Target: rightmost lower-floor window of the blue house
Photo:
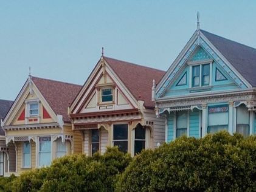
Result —
<instances>
[{"instance_id":1,"label":"rightmost lower-floor window of the blue house","mask_svg":"<svg viewBox=\"0 0 256 192\"><path fill-rule=\"evenodd\" d=\"M237 133L244 135L245 137L249 135L249 111L245 105L240 105L237 107Z\"/></svg>"}]
</instances>

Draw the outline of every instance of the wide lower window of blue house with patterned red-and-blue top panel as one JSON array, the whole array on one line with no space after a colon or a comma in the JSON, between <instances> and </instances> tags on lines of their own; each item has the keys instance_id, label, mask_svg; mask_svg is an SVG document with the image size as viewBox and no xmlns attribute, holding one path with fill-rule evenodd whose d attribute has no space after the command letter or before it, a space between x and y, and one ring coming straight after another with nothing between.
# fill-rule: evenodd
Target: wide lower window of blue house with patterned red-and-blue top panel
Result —
<instances>
[{"instance_id":1,"label":"wide lower window of blue house with patterned red-and-blue top panel","mask_svg":"<svg viewBox=\"0 0 256 192\"><path fill-rule=\"evenodd\" d=\"M228 129L229 125L229 106L209 106L208 107L208 133Z\"/></svg>"}]
</instances>

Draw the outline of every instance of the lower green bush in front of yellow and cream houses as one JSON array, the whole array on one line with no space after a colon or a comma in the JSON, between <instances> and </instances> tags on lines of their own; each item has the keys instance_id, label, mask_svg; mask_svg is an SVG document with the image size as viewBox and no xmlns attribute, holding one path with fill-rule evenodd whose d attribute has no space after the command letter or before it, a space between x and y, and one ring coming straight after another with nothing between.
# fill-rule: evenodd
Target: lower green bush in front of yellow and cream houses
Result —
<instances>
[{"instance_id":1,"label":"lower green bush in front of yellow and cream houses","mask_svg":"<svg viewBox=\"0 0 256 192\"><path fill-rule=\"evenodd\" d=\"M22 173L13 191L114 191L116 177L130 161L117 148L108 148L103 156L65 156L47 168Z\"/></svg>"}]
</instances>

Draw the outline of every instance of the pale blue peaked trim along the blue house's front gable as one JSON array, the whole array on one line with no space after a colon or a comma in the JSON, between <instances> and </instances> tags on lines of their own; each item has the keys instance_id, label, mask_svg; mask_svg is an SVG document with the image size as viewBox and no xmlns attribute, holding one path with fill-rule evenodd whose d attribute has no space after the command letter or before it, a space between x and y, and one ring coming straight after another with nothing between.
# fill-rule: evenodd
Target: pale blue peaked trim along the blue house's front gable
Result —
<instances>
[{"instance_id":1,"label":"pale blue peaked trim along the blue house's front gable","mask_svg":"<svg viewBox=\"0 0 256 192\"><path fill-rule=\"evenodd\" d=\"M223 67L223 70L226 71L227 74L229 74L230 79L234 81L235 84L238 85L238 87L241 88L247 88L252 87L251 84L249 84L240 74L237 72L237 70L234 69L234 67L229 63L229 61L226 60L226 58L221 55L221 53L213 46L212 43L204 36L202 33L198 33L199 31L196 31L192 38L190 38L189 42L185 45L184 49L182 49L181 53L179 53L176 60L171 64L170 68L168 69L167 73L164 75L162 80L157 84L156 87L156 100L157 98L161 98L167 88L170 86L171 83L175 80L176 74L179 73L182 66L184 66L185 63L187 64L195 64L195 62L198 64L202 61L192 61L187 62L189 58L191 58L191 54L195 52L195 50L198 48L198 46L201 46L211 57L211 61L215 61L218 63L221 67ZM210 60L209 60L210 61Z\"/></svg>"}]
</instances>

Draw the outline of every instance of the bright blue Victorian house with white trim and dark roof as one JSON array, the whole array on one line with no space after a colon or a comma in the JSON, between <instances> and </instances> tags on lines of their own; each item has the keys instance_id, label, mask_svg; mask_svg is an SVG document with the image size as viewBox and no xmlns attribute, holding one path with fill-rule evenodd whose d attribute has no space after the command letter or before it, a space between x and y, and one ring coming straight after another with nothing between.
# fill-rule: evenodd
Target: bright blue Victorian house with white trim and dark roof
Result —
<instances>
[{"instance_id":1,"label":"bright blue Victorian house with white trim and dark roof","mask_svg":"<svg viewBox=\"0 0 256 192\"><path fill-rule=\"evenodd\" d=\"M165 141L226 130L256 133L256 49L198 29L157 84Z\"/></svg>"}]
</instances>

